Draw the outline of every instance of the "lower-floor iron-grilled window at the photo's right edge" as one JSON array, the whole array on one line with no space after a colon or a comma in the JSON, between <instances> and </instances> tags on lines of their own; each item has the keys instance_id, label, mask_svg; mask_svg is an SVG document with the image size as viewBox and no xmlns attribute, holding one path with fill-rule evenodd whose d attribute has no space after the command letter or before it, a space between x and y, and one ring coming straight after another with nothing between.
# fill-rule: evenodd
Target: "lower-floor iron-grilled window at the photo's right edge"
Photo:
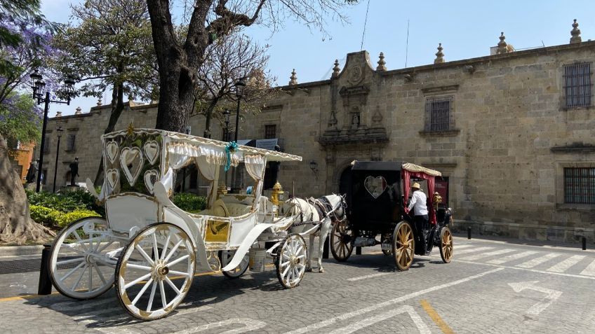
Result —
<instances>
[{"instance_id":1,"label":"lower-floor iron-grilled window at the photo's right edge","mask_svg":"<svg viewBox=\"0 0 595 334\"><path fill-rule=\"evenodd\" d=\"M595 168L564 168L564 202L595 204Z\"/></svg>"}]
</instances>

